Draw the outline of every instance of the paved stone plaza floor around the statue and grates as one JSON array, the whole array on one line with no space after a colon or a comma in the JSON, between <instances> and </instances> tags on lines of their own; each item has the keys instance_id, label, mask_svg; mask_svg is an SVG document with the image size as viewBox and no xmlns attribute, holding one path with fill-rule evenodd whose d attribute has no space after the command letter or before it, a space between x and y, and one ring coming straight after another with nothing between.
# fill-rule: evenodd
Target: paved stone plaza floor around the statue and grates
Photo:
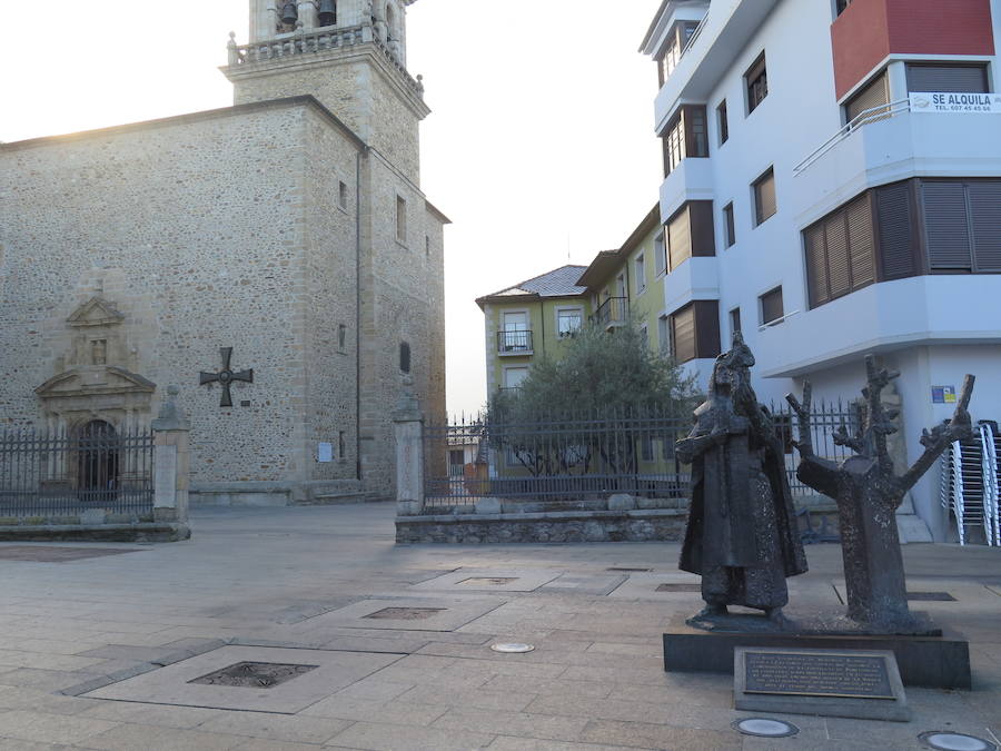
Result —
<instances>
[{"instance_id":1,"label":"paved stone plaza floor around the statue and grates","mask_svg":"<svg viewBox=\"0 0 1001 751\"><path fill-rule=\"evenodd\" d=\"M799 735L771 740L732 729L753 713L731 709L730 676L663 671L664 628L701 606L677 545L397 546L394 513L196 510L184 543L0 544L0 749L833 751L1001 734L997 549L904 550L909 589L951 596L914 605L970 639L972 692L908 689L910 723L787 715ZM841 610L840 549L806 552L793 607Z\"/></svg>"}]
</instances>

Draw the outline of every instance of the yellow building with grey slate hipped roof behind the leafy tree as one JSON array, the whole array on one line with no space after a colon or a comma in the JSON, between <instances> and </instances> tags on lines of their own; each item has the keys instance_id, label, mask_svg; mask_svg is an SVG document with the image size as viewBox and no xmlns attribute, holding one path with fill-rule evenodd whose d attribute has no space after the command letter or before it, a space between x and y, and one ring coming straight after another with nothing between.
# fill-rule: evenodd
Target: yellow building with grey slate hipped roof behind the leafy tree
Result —
<instances>
[{"instance_id":1,"label":"yellow building with grey slate hipped roof behind the leafy tree","mask_svg":"<svg viewBox=\"0 0 1001 751\"><path fill-rule=\"evenodd\" d=\"M488 396L517 388L533 359L559 359L567 337L593 313L577 284L585 268L562 266L476 300L485 318Z\"/></svg>"}]
</instances>

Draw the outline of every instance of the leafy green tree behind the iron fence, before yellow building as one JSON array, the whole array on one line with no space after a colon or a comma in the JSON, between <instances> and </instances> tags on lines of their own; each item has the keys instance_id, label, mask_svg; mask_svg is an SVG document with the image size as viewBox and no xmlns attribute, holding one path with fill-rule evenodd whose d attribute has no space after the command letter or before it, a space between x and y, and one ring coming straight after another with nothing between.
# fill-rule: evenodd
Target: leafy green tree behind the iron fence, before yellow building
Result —
<instances>
[{"instance_id":1,"label":"leafy green tree behind the iron fence, before yellow building","mask_svg":"<svg viewBox=\"0 0 1001 751\"><path fill-rule=\"evenodd\" d=\"M606 333L587 325L559 360L539 358L521 388L498 392L487 413L495 448L533 475L638 470L636 421L687 421L697 401L693 377L651 352L635 324ZM664 435L662 439L671 439Z\"/></svg>"}]
</instances>

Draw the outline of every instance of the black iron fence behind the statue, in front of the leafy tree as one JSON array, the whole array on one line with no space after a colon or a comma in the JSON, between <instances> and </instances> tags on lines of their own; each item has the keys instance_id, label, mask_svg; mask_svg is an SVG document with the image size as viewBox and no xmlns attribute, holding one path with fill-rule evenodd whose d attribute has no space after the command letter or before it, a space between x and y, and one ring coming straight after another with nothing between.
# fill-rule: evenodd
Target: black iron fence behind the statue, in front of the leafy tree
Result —
<instances>
[{"instance_id":1,"label":"black iron fence behind the statue, in front of the leafy tree","mask_svg":"<svg viewBox=\"0 0 1001 751\"><path fill-rule=\"evenodd\" d=\"M799 421L787 406L770 411L793 495L816 492L796 480ZM816 405L811 416L814 451L840 461L850 451L834 443L842 426L854 433L858 413L842 404ZM691 418L646 411L573 415L534 423L489 423L483 416L424 427L425 506L474 504L499 497L586 506L616 493L676 500L688 496L688 467L674 456L674 443L691 431ZM464 447L475 456L462 472L447 457Z\"/></svg>"}]
</instances>

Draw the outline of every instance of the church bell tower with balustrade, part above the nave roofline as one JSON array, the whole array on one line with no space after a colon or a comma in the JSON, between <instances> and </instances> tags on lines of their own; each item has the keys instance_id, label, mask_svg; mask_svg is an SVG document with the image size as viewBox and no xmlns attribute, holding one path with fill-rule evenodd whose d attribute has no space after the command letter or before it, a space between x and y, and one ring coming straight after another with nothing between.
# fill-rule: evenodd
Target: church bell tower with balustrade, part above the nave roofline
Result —
<instances>
[{"instance_id":1,"label":"church bell tower with balustrade, part above the nave roofline","mask_svg":"<svg viewBox=\"0 0 1001 751\"><path fill-rule=\"evenodd\" d=\"M416 0L249 1L250 41L231 38L222 68L235 103L311 95L419 185L417 131L430 110L406 67Z\"/></svg>"}]
</instances>

